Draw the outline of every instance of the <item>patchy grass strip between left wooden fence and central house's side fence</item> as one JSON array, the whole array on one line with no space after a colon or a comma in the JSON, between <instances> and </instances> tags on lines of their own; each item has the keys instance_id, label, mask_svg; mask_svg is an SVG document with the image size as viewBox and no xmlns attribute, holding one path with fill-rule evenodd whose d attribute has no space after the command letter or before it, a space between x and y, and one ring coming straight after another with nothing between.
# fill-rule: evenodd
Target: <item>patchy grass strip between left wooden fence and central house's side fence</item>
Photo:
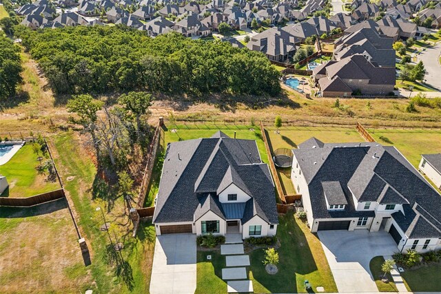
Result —
<instances>
[{"instance_id":1,"label":"patchy grass strip between left wooden fence and central house's side fence","mask_svg":"<svg viewBox=\"0 0 441 294\"><path fill-rule=\"evenodd\" d=\"M81 140L73 132L52 138L57 166L68 197L73 202L74 213L80 230L92 252L92 264L88 266L94 282L89 288L97 293L148 293L156 235L151 222L141 222L136 238L132 238L132 222L127 214L123 198L114 198L106 190L93 193L96 168L81 147ZM68 181L68 176L74 176ZM107 187L107 185L105 185ZM96 207L101 207L110 222L112 242L123 243L123 259L128 263L127 275L116 273L116 267L106 262L106 246L110 244L107 233L99 230L103 217ZM76 243L77 244L77 243ZM128 282L123 282L127 277Z\"/></svg>"}]
</instances>

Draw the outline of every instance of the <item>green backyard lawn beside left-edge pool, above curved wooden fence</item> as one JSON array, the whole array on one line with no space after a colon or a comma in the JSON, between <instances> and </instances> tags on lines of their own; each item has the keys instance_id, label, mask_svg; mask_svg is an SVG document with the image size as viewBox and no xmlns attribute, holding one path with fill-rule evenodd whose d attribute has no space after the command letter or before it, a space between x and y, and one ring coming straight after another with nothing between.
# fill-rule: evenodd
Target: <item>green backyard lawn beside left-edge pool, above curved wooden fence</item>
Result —
<instances>
[{"instance_id":1,"label":"green backyard lawn beside left-edge pool, above curved wooden fence","mask_svg":"<svg viewBox=\"0 0 441 294\"><path fill-rule=\"evenodd\" d=\"M6 189L2 196L11 198L30 197L60 189L58 182L46 181L48 174L39 174L36 169L38 165L37 155L32 151L30 143L21 147L6 164L0 165L0 174L6 176L9 183L9 189Z\"/></svg>"}]
</instances>

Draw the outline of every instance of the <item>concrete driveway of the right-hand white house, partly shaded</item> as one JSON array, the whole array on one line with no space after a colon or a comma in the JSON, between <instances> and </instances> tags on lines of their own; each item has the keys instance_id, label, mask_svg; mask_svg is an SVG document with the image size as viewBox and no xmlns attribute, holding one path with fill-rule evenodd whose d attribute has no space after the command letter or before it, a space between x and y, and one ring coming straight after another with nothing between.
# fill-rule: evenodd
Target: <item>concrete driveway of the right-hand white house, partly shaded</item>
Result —
<instances>
[{"instance_id":1,"label":"concrete driveway of the right-hand white house, partly shaded","mask_svg":"<svg viewBox=\"0 0 441 294\"><path fill-rule=\"evenodd\" d=\"M384 231L319 231L318 237L339 293L377 292L369 262L378 255L398 251L396 242Z\"/></svg>"}]
</instances>

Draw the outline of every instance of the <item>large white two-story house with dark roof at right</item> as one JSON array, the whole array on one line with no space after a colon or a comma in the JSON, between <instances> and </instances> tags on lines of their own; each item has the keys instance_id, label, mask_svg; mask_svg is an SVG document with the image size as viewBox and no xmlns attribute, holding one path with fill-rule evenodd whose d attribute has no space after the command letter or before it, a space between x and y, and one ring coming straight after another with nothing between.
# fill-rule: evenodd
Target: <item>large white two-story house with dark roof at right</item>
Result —
<instances>
[{"instance_id":1,"label":"large white two-story house with dark roof at right","mask_svg":"<svg viewBox=\"0 0 441 294\"><path fill-rule=\"evenodd\" d=\"M441 195L395 147L310 138L292 152L312 232L387 231L399 251L441 249Z\"/></svg>"}]
</instances>

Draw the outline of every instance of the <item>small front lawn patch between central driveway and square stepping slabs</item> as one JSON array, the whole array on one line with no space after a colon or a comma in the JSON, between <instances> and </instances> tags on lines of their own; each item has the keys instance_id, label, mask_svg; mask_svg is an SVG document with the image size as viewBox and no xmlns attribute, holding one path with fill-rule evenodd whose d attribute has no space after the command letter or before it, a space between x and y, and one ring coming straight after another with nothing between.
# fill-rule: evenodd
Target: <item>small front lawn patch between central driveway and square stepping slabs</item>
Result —
<instances>
[{"instance_id":1,"label":"small front lawn patch between central driveway and square stepping slabs","mask_svg":"<svg viewBox=\"0 0 441 294\"><path fill-rule=\"evenodd\" d=\"M207 260L212 255L212 260ZM222 269L225 268L225 256L220 251L198 251L196 264L196 291L195 294L227 293L227 283L222 280Z\"/></svg>"}]
</instances>

